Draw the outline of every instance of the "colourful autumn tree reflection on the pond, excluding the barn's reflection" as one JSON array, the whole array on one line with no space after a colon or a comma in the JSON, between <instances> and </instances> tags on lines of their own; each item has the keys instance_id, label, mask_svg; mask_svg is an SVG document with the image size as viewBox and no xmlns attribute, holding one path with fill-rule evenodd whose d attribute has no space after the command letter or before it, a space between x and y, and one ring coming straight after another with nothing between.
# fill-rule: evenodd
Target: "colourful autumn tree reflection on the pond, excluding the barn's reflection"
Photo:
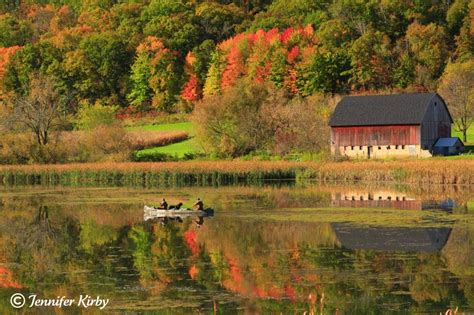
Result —
<instances>
[{"instance_id":1,"label":"colourful autumn tree reflection on the pond, excluding the barn's reflection","mask_svg":"<svg viewBox=\"0 0 474 315\"><path fill-rule=\"evenodd\" d=\"M0 220L8 283L44 296L86 292L113 297L119 308L146 300L153 309L222 313L237 307L249 313L434 312L474 305L469 224L455 225L441 251L422 252L384 250L380 242L370 248L370 240L347 247L330 223L222 216L201 228L195 218L129 224L46 205Z\"/></svg>"}]
</instances>

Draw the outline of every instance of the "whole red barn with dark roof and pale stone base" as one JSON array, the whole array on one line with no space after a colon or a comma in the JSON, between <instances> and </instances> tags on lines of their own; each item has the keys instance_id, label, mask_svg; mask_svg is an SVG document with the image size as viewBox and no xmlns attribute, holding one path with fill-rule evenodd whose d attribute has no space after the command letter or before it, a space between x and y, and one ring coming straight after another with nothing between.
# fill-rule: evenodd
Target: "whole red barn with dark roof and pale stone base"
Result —
<instances>
[{"instance_id":1,"label":"whole red barn with dark roof and pale stone base","mask_svg":"<svg viewBox=\"0 0 474 315\"><path fill-rule=\"evenodd\" d=\"M347 96L336 106L331 153L349 157L431 156L453 120L437 93Z\"/></svg>"}]
</instances>

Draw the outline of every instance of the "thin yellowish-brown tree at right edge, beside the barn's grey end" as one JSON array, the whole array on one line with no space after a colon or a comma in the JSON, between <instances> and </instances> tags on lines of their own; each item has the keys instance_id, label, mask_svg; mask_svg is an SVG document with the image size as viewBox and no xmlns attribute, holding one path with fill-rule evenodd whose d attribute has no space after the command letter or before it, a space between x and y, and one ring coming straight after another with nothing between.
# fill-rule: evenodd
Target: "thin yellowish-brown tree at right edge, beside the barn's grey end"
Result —
<instances>
[{"instance_id":1,"label":"thin yellowish-brown tree at right edge, beside the barn's grey end","mask_svg":"<svg viewBox=\"0 0 474 315\"><path fill-rule=\"evenodd\" d=\"M474 60L449 64L441 78L439 92L466 142L467 131L474 120Z\"/></svg>"}]
</instances>

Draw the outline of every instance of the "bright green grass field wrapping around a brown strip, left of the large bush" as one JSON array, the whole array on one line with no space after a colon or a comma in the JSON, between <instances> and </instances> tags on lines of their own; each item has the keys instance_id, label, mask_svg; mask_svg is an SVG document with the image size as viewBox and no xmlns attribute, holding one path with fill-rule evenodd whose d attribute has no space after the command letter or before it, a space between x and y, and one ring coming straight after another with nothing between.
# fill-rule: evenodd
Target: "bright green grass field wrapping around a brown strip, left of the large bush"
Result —
<instances>
[{"instance_id":1,"label":"bright green grass field wrapping around a brown strip, left of the large bush","mask_svg":"<svg viewBox=\"0 0 474 315\"><path fill-rule=\"evenodd\" d=\"M130 131L184 131L187 132L190 136L190 139L182 142L137 151L137 156L153 156L159 154L166 154L178 159L182 159L186 157L186 155L203 153L203 148L199 145L195 138L195 128L192 122L144 125L127 129Z\"/></svg>"}]
</instances>

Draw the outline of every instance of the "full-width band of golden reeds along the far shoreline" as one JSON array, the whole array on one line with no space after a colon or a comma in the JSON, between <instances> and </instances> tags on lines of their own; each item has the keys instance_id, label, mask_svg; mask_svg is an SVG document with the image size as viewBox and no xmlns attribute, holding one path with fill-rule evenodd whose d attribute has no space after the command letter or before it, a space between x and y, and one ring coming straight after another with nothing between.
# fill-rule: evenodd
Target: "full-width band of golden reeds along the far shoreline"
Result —
<instances>
[{"instance_id":1,"label":"full-width band of golden reeds along the far shoreline","mask_svg":"<svg viewBox=\"0 0 474 315\"><path fill-rule=\"evenodd\" d=\"M474 160L352 162L189 161L0 166L0 183L220 185L265 180L474 184Z\"/></svg>"}]
</instances>

